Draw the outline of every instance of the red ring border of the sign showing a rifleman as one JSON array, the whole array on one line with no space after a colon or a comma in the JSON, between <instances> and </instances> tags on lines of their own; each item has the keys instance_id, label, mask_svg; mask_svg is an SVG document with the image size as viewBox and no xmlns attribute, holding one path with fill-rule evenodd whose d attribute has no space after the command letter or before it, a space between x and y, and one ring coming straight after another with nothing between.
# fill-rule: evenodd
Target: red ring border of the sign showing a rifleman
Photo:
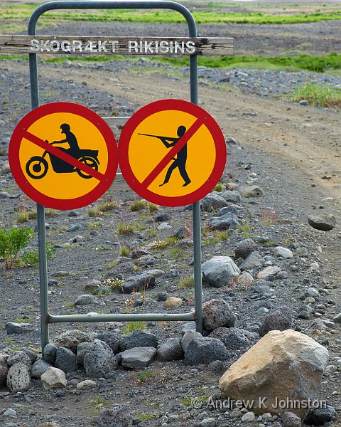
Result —
<instances>
[{"instance_id":1,"label":"red ring border of the sign showing a rifleman","mask_svg":"<svg viewBox=\"0 0 341 427\"><path fill-rule=\"evenodd\" d=\"M197 118L202 118L202 122L205 124L213 137L216 153L219 152L219 154L221 154L216 157L215 167L205 184L203 184L199 189L193 191L193 193L185 194L184 196L161 196L159 194L153 193L153 191L142 188L141 183L136 179L136 176L134 175L134 172L132 171L129 164L129 142L131 135L133 134L134 130L136 130L137 125L146 119L146 117L164 110L188 112ZM158 100L141 107L141 109L136 111L134 115L132 115L126 122L126 125L121 132L121 137L119 138L119 167L124 176L124 179L126 180L126 183L129 184L131 189L133 189L141 197L160 206L186 206L193 204L196 201L200 201L200 199L207 196L207 194L209 194L210 191L212 191L215 185L219 182L222 173L224 172L226 159L226 142L224 135L222 134L222 130L220 129L215 119L213 119L213 117L202 107L193 104L193 102L185 100Z\"/></svg>"}]
</instances>

